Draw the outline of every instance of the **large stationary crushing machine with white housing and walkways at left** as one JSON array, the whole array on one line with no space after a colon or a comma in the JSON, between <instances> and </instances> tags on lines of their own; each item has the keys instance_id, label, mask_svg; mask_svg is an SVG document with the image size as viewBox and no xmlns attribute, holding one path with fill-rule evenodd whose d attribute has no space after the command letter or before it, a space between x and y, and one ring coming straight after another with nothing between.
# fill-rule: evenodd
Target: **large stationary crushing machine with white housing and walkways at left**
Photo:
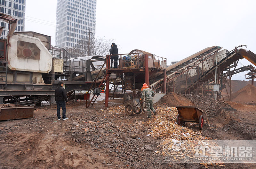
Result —
<instances>
[{"instance_id":1,"label":"large stationary crushing machine with white housing and walkways at left","mask_svg":"<svg viewBox=\"0 0 256 169\"><path fill-rule=\"evenodd\" d=\"M0 104L41 104L43 100L55 104L54 90L59 80L64 82L68 94L88 90L101 68L94 63L106 60L88 56L71 61L67 50L51 46L50 36L13 33L17 19L1 13L0 19L11 25L8 38L0 40Z\"/></svg>"}]
</instances>

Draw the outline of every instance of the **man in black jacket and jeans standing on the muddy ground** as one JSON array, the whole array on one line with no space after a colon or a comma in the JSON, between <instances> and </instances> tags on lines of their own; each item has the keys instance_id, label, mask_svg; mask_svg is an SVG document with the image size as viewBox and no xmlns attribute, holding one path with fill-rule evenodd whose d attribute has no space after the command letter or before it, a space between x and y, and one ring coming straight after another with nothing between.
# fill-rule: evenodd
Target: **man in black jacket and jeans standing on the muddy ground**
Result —
<instances>
[{"instance_id":1,"label":"man in black jacket and jeans standing on the muddy ground","mask_svg":"<svg viewBox=\"0 0 256 169\"><path fill-rule=\"evenodd\" d=\"M55 89L55 101L57 103L57 116L60 120L60 107L62 108L62 120L68 120L66 117L66 103L68 103L68 98L66 90L63 88L63 82L59 82L58 87Z\"/></svg>"}]
</instances>

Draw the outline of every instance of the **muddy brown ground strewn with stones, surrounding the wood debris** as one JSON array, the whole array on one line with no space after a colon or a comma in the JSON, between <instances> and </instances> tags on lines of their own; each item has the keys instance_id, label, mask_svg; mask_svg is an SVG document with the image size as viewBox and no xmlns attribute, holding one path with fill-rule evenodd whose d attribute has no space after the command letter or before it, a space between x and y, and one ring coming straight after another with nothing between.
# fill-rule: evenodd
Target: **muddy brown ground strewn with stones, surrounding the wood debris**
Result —
<instances>
[{"instance_id":1,"label":"muddy brown ground strewn with stones, surrounding the wood debris","mask_svg":"<svg viewBox=\"0 0 256 169\"><path fill-rule=\"evenodd\" d=\"M174 97L174 96L173 96ZM215 101L200 96L181 95L182 104L198 106L208 114L202 135L212 139L255 139L256 105ZM172 95L156 106L172 105ZM164 100L165 99L165 100ZM167 100L166 100L167 99ZM175 103L177 100L175 100ZM104 100L86 108L69 102L66 121L57 121L56 109L35 107L34 118L0 122L0 169L2 168L205 168L198 163L168 163L164 160L161 139L147 136L146 112L127 116L122 100L114 99L110 109ZM176 105L175 105L176 106ZM113 110L113 111L109 111ZM157 114L154 118L157 118ZM198 124L186 127L198 131ZM138 136L133 139L131 135ZM255 168L253 163L225 163L209 168Z\"/></svg>"}]
</instances>

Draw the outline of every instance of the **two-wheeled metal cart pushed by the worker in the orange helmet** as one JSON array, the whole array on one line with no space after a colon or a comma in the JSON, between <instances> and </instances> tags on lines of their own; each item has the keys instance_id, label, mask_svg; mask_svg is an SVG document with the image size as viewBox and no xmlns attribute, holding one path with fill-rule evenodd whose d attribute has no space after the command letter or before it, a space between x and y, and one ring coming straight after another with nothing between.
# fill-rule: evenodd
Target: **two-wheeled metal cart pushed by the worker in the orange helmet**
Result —
<instances>
[{"instance_id":1,"label":"two-wheeled metal cart pushed by the worker in the orange helmet","mask_svg":"<svg viewBox=\"0 0 256 169\"><path fill-rule=\"evenodd\" d=\"M124 106L125 106L124 107L125 114L127 114L129 116L132 115L133 113L135 113L135 114L141 113L140 99L128 100L128 101L124 102Z\"/></svg>"}]
</instances>

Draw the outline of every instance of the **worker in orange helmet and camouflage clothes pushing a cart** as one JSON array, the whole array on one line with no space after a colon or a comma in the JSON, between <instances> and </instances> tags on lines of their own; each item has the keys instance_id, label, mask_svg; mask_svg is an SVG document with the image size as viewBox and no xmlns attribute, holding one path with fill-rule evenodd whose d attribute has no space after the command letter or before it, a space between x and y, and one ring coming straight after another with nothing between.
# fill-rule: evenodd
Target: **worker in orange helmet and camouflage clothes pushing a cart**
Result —
<instances>
[{"instance_id":1,"label":"worker in orange helmet and camouflage clothes pushing a cart","mask_svg":"<svg viewBox=\"0 0 256 169\"><path fill-rule=\"evenodd\" d=\"M150 109L153 111L154 115L156 115L156 110L153 107L153 97L155 96L155 93L153 92L152 89L148 88L148 85L146 83L143 84L141 91L142 91L142 95L140 100L142 100L145 97L148 118L151 118Z\"/></svg>"}]
</instances>

